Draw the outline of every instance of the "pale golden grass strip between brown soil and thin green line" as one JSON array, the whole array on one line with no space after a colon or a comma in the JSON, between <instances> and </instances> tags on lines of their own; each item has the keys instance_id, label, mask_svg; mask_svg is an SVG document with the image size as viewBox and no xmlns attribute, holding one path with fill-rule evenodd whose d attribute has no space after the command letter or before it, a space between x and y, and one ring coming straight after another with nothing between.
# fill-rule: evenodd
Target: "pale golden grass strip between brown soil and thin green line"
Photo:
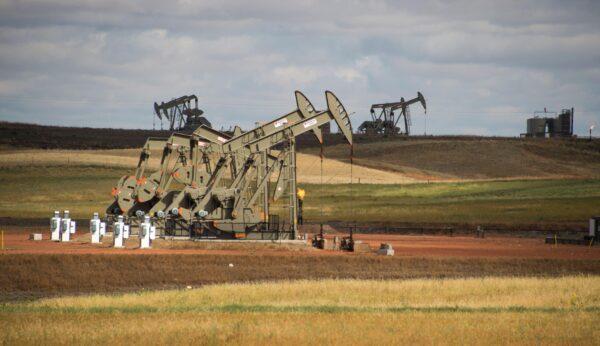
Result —
<instances>
[{"instance_id":1,"label":"pale golden grass strip between brown soil and thin green line","mask_svg":"<svg viewBox=\"0 0 600 346\"><path fill-rule=\"evenodd\" d=\"M119 296L49 298L25 309L203 310L237 305L357 309L598 308L600 276L415 280L299 280L232 283L194 290L151 291Z\"/></svg>"}]
</instances>

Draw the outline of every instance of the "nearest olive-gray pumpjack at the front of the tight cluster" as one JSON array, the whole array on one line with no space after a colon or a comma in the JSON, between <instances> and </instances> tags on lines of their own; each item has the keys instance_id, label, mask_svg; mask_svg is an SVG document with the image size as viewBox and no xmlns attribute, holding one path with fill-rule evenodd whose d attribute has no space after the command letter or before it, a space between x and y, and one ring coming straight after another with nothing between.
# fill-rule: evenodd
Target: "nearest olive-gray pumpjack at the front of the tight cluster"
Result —
<instances>
[{"instance_id":1,"label":"nearest olive-gray pumpjack at the front of the tight cluster","mask_svg":"<svg viewBox=\"0 0 600 346\"><path fill-rule=\"evenodd\" d=\"M194 230L208 231L219 237L245 238L256 231L261 221L268 215L268 198L264 198L263 213L259 214L259 196L275 171L278 171L277 186L285 185L290 196L290 232L297 235L298 198L296 195L296 155L295 138L303 133L320 129L334 120L352 144L352 128L348 113L332 92L325 92L327 110L316 111L310 101L296 92L297 110L289 113L293 121L283 116L268 123L258 131L249 131L240 137L232 138L214 150L220 150L221 158L206 186L186 186L166 208L168 217L187 224ZM317 135L319 137L319 135ZM241 144L239 147L236 144ZM275 160L268 159L269 151L279 149ZM224 172L235 156L245 157L243 166L235 179L224 182ZM253 184L254 182L254 184ZM222 184L224 183L224 184ZM281 191L277 189L275 191ZM273 199L279 196L276 194Z\"/></svg>"}]
</instances>

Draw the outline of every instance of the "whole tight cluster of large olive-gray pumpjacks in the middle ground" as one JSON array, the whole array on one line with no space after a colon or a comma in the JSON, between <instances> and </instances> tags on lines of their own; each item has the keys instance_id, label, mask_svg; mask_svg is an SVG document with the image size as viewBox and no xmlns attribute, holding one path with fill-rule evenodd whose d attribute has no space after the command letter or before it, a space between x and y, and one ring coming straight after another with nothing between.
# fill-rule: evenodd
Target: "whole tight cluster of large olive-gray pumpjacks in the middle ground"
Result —
<instances>
[{"instance_id":1,"label":"whole tight cluster of large olive-gray pumpjacks in the middle ground","mask_svg":"<svg viewBox=\"0 0 600 346\"><path fill-rule=\"evenodd\" d=\"M321 128L333 120L352 145L352 127L332 92L325 92L322 111L301 92L295 97L295 110L244 133L201 125L191 134L148 138L134 174L113 189L109 220L139 228L149 216L163 235L296 239L296 138L310 132L322 143ZM161 166L150 173L149 159L157 153Z\"/></svg>"}]
</instances>

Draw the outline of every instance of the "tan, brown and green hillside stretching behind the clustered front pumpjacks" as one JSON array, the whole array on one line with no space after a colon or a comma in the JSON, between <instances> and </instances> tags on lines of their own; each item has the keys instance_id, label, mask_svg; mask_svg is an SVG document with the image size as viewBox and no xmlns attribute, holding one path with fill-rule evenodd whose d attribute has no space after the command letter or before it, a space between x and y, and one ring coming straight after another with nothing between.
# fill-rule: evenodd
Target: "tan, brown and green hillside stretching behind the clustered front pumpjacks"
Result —
<instances>
[{"instance_id":1,"label":"tan, brown and green hillside stretching behind the clustered front pumpjacks","mask_svg":"<svg viewBox=\"0 0 600 346\"><path fill-rule=\"evenodd\" d=\"M310 221L585 229L600 213L599 140L356 136L350 188L349 147L339 139L326 138L322 177L319 147L300 145L298 181ZM46 218L58 209L88 218L110 203L111 188L133 172L138 155L0 146L0 218ZM158 156L150 166L158 167Z\"/></svg>"}]
</instances>

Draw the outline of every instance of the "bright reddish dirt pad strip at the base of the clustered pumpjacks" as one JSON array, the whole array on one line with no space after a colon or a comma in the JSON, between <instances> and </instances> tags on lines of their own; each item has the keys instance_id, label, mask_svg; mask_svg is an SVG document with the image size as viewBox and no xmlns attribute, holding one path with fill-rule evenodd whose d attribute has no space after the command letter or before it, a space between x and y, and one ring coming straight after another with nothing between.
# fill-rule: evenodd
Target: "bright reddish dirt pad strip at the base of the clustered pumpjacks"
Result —
<instances>
[{"instance_id":1,"label":"bright reddish dirt pad strip at the base of the clustered pumpjacks","mask_svg":"<svg viewBox=\"0 0 600 346\"><path fill-rule=\"evenodd\" d=\"M279 246L273 244L231 244L214 246L206 243L157 240L153 249L137 249L137 241L132 238L126 249L113 249L110 239L103 244L89 243L86 233L76 235L70 243L55 243L49 240L50 234L41 228L29 228L42 232L40 242L28 239L29 233L23 230L5 232L5 254L211 254L245 255L249 251L261 255L288 256L374 256L340 251L315 250L309 247ZM339 236L342 236L341 234ZM333 235L327 235L328 238ZM600 247L578 245L548 245L541 238L488 237L485 239L466 236L409 236L389 234L358 234L356 240L368 243L373 250L381 243L390 243L396 256L403 257L458 257L458 258L536 258L536 259L600 259Z\"/></svg>"}]
</instances>

